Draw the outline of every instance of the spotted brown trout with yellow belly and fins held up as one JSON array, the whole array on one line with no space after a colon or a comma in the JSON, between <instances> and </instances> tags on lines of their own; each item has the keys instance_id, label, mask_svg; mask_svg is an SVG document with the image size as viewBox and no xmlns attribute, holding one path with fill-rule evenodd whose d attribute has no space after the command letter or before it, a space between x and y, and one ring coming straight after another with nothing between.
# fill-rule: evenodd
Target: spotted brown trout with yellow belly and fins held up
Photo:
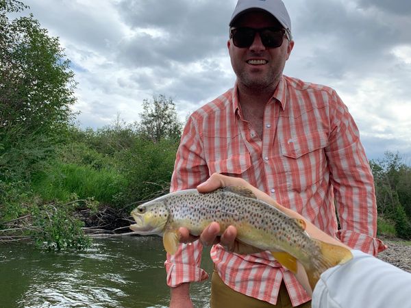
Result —
<instances>
[{"instance_id":1,"label":"spotted brown trout with yellow belly and fins held up","mask_svg":"<svg viewBox=\"0 0 411 308\"><path fill-rule=\"evenodd\" d=\"M237 240L270 251L285 268L297 272L297 260L314 289L322 272L352 258L342 246L310 238L306 222L291 218L273 205L259 200L247 188L225 187L206 194L181 190L139 205L132 211L140 235L162 235L164 248L173 255L179 245L179 227L199 235L210 222L220 224L221 233L232 225Z\"/></svg>"}]
</instances>

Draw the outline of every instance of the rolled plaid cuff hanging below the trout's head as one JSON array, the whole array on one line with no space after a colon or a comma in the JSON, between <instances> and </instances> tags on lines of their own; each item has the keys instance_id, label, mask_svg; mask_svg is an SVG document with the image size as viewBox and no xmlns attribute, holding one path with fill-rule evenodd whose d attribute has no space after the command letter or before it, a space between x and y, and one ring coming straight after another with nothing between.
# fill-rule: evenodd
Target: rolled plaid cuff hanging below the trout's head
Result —
<instances>
[{"instance_id":1,"label":"rolled plaid cuff hanging below the trout's head","mask_svg":"<svg viewBox=\"0 0 411 308\"><path fill-rule=\"evenodd\" d=\"M167 285L169 287L178 287L182 283L199 282L208 279L208 273L197 266L188 264L173 264L165 261L167 272Z\"/></svg>"}]
</instances>

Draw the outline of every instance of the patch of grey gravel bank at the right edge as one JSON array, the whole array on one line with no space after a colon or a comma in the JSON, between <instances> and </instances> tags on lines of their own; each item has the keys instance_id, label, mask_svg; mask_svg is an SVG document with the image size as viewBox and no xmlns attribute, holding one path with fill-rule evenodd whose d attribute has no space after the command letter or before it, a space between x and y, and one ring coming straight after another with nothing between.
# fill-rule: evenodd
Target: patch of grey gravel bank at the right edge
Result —
<instances>
[{"instance_id":1,"label":"patch of grey gravel bank at the right edge","mask_svg":"<svg viewBox=\"0 0 411 308\"><path fill-rule=\"evenodd\" d=\"M411 272L411 242L383 239L388 248L378 258Z\"/></svg>"}]
</instances>

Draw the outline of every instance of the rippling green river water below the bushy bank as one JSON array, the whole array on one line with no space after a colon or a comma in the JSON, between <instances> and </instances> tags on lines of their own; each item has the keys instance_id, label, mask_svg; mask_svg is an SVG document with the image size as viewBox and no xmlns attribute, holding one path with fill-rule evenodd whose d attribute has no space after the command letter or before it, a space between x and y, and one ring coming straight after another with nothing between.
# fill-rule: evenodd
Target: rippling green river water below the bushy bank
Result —
<instances>
[{"instance_id":1,"label":"rippling green river water below the bushy bank","mask_svg":"<svg viewBox=\"0 0 411 308\"><path fill-rule=\"evenodd\" d=\"M0 244L0 307L167 307L164 258L157 236L95 239L85 251L58 253ZM212 272L209 249L202 268ZM195 307L209 307L210 281L192 283L190 294Z\"/></svg>"}]
</instances>

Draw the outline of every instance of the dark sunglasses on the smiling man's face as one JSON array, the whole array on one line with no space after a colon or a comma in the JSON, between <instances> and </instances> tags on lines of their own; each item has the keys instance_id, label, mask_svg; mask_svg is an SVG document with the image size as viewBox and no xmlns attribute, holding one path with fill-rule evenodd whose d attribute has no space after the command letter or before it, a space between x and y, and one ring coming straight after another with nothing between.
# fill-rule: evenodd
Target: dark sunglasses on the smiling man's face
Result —
<instances>
[{"instance_id":1,"label":"dark sunglasses on the smiling man's face","mask_svg":"<svg viewBox=\"0 0 411 308\"><path fill-rule=\"evenodd\" d=\"M260 29L238 27L229 30L229 38L233 39L235 47L249 48L254 42L256 33L260 34L261 42L264 47L277 48L282 45L286 30L273 27Z\"/></svg>"}]
</instances>

